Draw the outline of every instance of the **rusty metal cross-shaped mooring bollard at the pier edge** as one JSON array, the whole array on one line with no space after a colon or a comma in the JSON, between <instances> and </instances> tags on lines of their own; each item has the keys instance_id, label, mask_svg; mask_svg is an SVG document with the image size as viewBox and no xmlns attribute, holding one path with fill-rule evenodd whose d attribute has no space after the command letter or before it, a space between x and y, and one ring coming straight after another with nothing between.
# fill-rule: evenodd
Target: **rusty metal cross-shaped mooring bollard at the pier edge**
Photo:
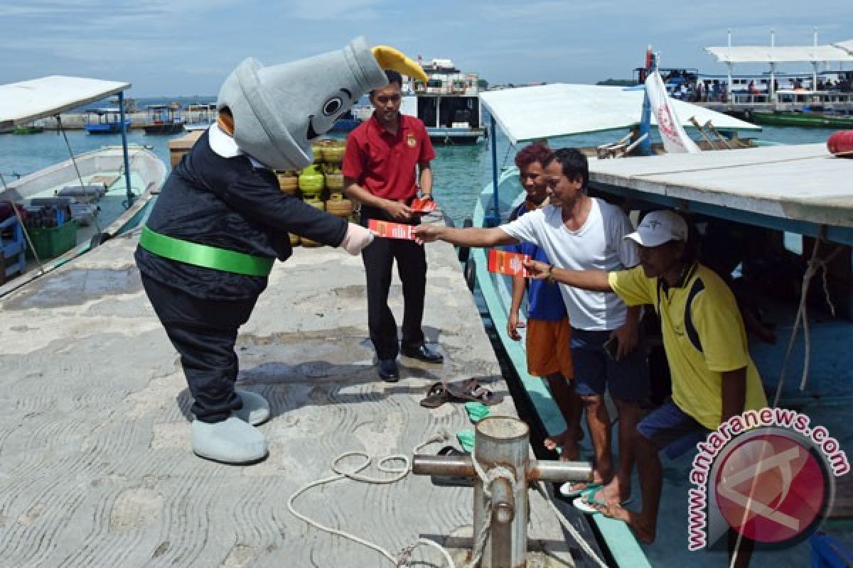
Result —
<instances>
[{"instance_id":1,"label":"rusty metal cross-shaped mooring bollard at the pier edge","mask_svg":"<svg viewBox=\"0 0 853 568\"><path fill-rule=\"evenodd\" d=\"M481 552L481 568L525 566L530 519L527 486L536 481L591 481L592 465L531 460L530 429L511 416L485 418L475 432L473 459L415 456L412 473L473 478L472 554Z\"/></svg>"}]
</instances>

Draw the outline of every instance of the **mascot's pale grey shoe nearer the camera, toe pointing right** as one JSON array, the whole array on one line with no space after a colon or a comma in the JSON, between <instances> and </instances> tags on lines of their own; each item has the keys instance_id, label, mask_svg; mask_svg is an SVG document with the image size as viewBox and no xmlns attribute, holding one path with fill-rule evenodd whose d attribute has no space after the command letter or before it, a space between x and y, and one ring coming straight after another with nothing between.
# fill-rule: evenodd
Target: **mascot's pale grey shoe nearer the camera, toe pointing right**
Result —
<instances>
[{"instance_id":1,"label":"mascot's pale grey shoe nearer the camera, toe pointing right","mask_svg":"<svg viewBox=\"0 0 853 568\"><path fill-rule=\"evenodd\" d=\"M252 463L268 453L264 434L233 415L222 422L194 420L190 433L195 455L214 462Z\"/></svg>"}]
</instances>

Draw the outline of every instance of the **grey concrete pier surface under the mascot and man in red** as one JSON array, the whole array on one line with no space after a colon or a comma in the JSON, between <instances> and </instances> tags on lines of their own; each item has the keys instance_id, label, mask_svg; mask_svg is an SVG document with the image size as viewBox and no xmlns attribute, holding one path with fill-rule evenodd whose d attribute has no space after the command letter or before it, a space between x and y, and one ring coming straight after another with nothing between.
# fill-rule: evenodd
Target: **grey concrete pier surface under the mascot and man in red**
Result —
<instances>
[{"instance_id":1,"label":"grey concrete pier surface under the mascot and man in red","mask_svg":"<svg viewBox=\"0 0 853 568\"><path fill-rule=\"evenodd\" d=\"M330 463L350 450L372 456L362 473L386 477L382 456L410 457L441 433L450 439L421 453L458 447L455 433L472 427L463 406L418 404L433 382L480 377L506 396L492 415L515 414L450 245L427 249L424 329L444 364L403 358L396 384L376 376L361 258L300 248L276 263L238 341L239 384L272 405L260 427L270 456L248 467L201 460L189 449L177 353L133 264L136 238L108 241L0 301L0 566L392 566L293 516L288 498L333 475ZM396 280L391 303L399 316ZM295 507L395 556L430 538L461 565L471 491L413 475L390 485L341 479ZM534 493L529 531L537 565L590 565ZM412 558L445 565L432 548Z\"/></svg>"}]
</instances>

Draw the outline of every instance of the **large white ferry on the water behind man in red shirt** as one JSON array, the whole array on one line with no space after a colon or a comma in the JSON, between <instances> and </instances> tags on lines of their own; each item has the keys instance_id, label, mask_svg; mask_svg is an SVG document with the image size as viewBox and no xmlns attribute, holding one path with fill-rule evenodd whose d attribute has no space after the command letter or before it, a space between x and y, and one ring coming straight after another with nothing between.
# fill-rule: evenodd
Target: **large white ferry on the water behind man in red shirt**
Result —
<instances>
[{"instance_id":1,"label":"large white ferry on the water behind man in red shirt","mask_svg":"<svg viewBox=\"0 0 853 568\"><path fill-rule=\"evenodd\" d=\"M485 136L477 73L461 72L449 59L433 59L421 66L427 83L411 81L403 86L400 112L420 118L433 144L476 144Z\"/></svg>"}]
</instances>

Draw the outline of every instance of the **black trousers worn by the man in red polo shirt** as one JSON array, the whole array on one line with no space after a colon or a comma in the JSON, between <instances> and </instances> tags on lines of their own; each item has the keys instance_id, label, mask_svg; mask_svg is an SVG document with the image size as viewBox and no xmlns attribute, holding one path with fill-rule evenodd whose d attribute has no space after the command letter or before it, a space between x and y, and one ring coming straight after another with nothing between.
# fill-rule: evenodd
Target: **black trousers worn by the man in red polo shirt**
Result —
<instances>
[{"instance_id":1,"label":"black trousers worn by the man in red polo shirt","mask_svg":"<svg viewBox=\"0 0 853 568\"><path fill-rule=\"evenodd\" d=\"M366 224L366 219L362 218ZM427 292L427 253L415 241L399 238L374 238L362 251L368 283L368 329L379 359L395 359L397 322L388 307L392 266L397 260L397 273L403 283L403 345L419 347L424 342L421 321L424 294Z\"/></svg>"}]
</instances>

